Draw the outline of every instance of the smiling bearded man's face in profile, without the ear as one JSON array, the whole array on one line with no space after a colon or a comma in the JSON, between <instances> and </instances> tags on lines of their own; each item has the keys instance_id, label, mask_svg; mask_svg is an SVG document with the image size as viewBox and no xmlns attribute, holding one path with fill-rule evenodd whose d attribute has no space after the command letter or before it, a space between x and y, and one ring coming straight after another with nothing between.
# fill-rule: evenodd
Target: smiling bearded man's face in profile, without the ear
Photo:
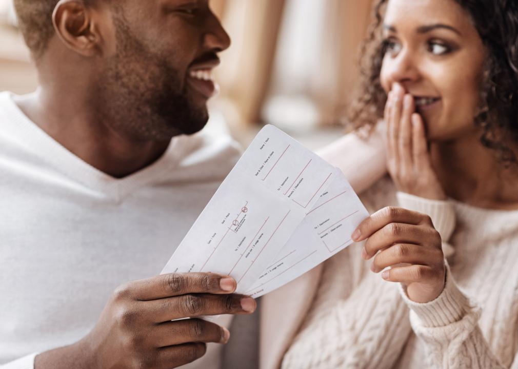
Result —
<instances>
[{"instance_id":1,"label":"smiling bearded man's face in profile, without the ear","mask_svg":"<svg viewBox=\"0 0 518 369\"><path fill-rule=\"evenodd\" d=\"M125 0L110 9L115 47L99 73L99 119L142 141L202 129L218 88L210 73L230 43L208 0Z\"/></svg>"}]
</instances>

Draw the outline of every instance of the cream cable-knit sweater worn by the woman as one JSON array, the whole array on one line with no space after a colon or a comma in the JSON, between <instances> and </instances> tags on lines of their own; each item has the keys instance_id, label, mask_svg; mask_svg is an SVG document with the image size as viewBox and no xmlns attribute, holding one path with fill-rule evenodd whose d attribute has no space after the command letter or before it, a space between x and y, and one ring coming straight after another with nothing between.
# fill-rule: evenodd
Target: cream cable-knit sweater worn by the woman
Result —
<instances>
[{"instance_id":1,"label":"cream cable-knit sweater worn by the woman","mask_svg":"<svg viewBox=\"0 0 518 369\"><path fill-rule=\"evenodd\" d=\"M430 215L449 264L445 289L414 303L354 244L326 261L282 367L518 368L518 211L396 194L388 178L361 198L371 212L399 204Z\"/></svg>"}]
</instances>

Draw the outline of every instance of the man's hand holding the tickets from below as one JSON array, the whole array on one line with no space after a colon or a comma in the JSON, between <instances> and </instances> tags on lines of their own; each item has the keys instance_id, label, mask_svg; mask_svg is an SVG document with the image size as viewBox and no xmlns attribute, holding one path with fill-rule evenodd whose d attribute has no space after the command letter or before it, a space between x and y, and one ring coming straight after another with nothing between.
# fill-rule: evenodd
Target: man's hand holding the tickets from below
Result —
<instances>
[{"instance_id":1,"label":"man's hand holding the tickets from below","mask_svg":"<svg viewBox=\"0 0 518 369\"><path fill-rule=\"evenodd\" d=\"M207 342L225 344L230 333L203 315L247 314L255 301L232 294L236 282L212 273L164 274L120 286L90 334L75 345L42 353L36 369L170 369L205 354ZM78 317L81 319L81 317ZM175 321L172 321L175 320ZM78 362L79 361L79 362Z\"/></svg>"}]
</instances>

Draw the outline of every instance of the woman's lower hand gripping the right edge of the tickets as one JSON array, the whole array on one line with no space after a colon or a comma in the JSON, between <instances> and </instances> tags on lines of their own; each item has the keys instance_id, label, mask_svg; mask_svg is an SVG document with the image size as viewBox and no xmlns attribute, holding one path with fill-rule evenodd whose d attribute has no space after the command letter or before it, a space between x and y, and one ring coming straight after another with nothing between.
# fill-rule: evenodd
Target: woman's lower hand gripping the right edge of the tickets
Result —
<instances>
[{"instance_id":1,"label":"woman's lower hand gripping the right edge of the tickets","mask_svg":"<svg viewBox=\"0 0 518 369\"><path fill-rule=\"evenodd\" d=\"M429 216L392 206L365 219L352 235L365 242L362 257L374 257L371 270L407 286L410 300L435 300L444 289L446 267L441 236Z\"/></svg>"}]
</instances>

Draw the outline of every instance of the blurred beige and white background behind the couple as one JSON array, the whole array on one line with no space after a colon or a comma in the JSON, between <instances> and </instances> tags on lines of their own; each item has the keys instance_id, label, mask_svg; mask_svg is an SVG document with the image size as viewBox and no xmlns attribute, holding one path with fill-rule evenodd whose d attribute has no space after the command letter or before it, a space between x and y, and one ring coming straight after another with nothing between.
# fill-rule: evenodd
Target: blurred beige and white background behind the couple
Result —
<instances>
[{"instance_id":1,"label":"blurred beige and white background behind the couple","mask_svg":"<svg viewBox=\"0 0 518 369\"><path fill-rule=\"evenodd\" d=\"M0 0L0 91L32 92L37 76L16 27L12 0ZM244 146L274 124L316 150L343 132L358 82L358 58L372 0L210 0L232 38L211 100Z\"/></svg>"}]
</instances>

